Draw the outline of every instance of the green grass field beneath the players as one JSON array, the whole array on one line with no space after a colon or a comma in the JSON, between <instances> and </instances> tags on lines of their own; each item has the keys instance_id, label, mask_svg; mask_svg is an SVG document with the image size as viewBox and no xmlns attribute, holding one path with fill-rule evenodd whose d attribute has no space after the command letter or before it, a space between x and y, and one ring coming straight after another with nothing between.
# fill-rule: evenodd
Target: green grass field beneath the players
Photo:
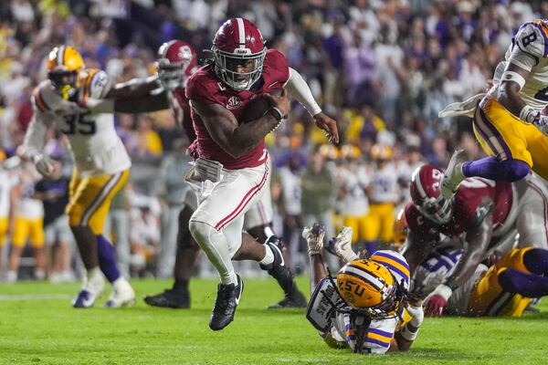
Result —
<instances>
[{"instance_id":1,"label":"green grass field beneath the players","mask_svg":"<svg viewBox=\"0 0 548 365\"><path fill-rule=\"evenodd\" d=\"M193 308L150 308L144 294L167 281L133 281L132 308L70 308L77 284L0 285L2 364L522 364L548 363L548 300L523 318L426 319L407 353L354 355L330 349L303 311L269 311L281 297L272 280L246 280L235 321L207 327L215 280L194 280ZM308 287L301 277L300 287Z\"/></svg>"}]
</instances>

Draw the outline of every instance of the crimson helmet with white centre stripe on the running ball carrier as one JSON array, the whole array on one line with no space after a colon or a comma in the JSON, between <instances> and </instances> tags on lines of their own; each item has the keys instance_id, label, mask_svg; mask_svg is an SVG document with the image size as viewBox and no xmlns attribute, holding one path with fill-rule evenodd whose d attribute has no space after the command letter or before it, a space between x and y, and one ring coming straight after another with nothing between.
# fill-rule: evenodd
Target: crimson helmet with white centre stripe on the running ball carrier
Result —
<instances>
[{"instance_id":1,"label":"crimson helmet with white centre stripe on the running ball carrier","mask_svg":"<svg viewBox=\"0 0 548 365\"><path fill-rule=\"evenodd\" d=\"M227 20L217 30L211 50L217 78L231 89L251 89L260 78L267 47L258 27L248 19Z\"/></svg>"}]
</instances>

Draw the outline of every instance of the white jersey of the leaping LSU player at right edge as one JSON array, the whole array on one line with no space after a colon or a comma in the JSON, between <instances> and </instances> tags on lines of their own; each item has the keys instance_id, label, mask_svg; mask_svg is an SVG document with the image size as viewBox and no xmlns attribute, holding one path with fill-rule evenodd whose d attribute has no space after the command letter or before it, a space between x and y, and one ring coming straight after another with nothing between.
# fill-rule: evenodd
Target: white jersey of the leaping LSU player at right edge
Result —
<instances>
[{"instance_id":1,"label":"white jersey of the leaping LSU player at right edge","mask_svg":"<svg viewBox=\"0 0 548 365\"><path fill-rule=\"evenodd\" d=\"M535 20L523 23L513 36L505 59L506 62L530 71L519 95L527 105L542 110L548 105L547 21ZM497 90L493 94L496 98Z\"/></svg>"}]
</instances>

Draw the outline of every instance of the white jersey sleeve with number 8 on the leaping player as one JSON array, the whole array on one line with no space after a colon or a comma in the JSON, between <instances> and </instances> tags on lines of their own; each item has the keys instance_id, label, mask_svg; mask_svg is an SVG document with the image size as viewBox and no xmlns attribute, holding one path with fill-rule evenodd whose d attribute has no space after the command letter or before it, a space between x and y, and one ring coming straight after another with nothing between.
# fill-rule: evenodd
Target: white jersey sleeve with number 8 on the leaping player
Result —
<instances>
[{"instance_id":1,"label":"white jersey sleeve with number 8 on the leaping player","mask_svg":"<svg viewBox=\"0 0 548 365\"><path fill-rule=\"evenodd\" d=\"M531 71L548 52L548 37L543 27L534 23L524 24L512 40L508 61Z\"/></svg>"}]
</instances>

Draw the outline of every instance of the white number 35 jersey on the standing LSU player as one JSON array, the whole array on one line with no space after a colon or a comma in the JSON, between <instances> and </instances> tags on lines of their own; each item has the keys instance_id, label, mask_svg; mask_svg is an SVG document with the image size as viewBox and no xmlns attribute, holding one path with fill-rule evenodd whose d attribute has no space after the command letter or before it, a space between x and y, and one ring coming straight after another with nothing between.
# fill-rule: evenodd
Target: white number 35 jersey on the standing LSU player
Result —
<instances>
[{"instance_id":1,"label":"white number 35 jersey on the standing LSU player","mask_svg":"<svg viewBox=\"0 0 548 365\"><path fill-rule=\"evenodd\" d=\"M76 99L104 98L111 89L108 75L98 69L86 69L79 74L80 87ZM25 144L41 151L47 126L57 124L68 137L76 169L80 174L100 175L121 172L131 167L131 161L114 128L114 116L109 113L91 114L70 100L63 99L51 81L42 81L32 98L35 111Z\"/></svg>"}]
</instances>

